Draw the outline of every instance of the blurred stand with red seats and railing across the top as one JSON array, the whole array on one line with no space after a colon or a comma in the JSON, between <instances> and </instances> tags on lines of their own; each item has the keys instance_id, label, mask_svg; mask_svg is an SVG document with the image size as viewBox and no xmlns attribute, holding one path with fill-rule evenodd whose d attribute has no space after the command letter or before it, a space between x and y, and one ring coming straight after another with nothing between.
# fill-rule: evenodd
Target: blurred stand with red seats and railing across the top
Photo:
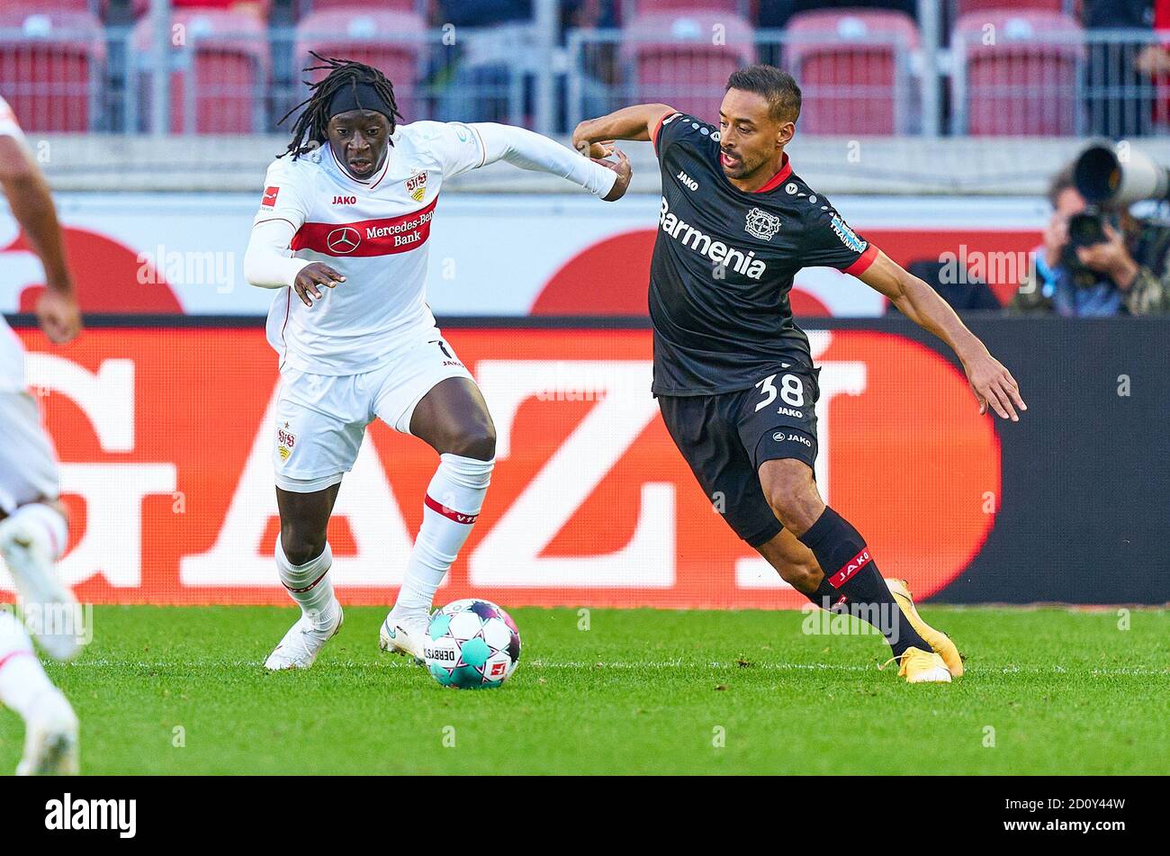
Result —
<instances>
[{"instance_id":1,"label":"blurred stand with red seats and railing across the top","mask_svg":"<svg viewBox=\"0 0 1170 856\"><path fill-rule=\"evenodd\" d=\"M309 51L392 78L408 120L564 133L632 102L714 122L763 61L801 131L1149 136L1170 125L1170 0L4 0L0 95L34 132L262 134Z\"/></svg>"}]
</instances>

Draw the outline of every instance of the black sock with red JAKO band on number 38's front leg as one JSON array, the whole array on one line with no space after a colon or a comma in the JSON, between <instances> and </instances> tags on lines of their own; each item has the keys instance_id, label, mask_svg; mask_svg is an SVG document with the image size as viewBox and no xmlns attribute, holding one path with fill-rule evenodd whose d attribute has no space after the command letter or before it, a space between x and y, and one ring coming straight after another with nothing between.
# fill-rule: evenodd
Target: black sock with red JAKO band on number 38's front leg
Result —
<instances>
[{"instance_id":1,"label":"black sock with red JAKO band on number 38's front leg","mask_svg":"<svg viewBox=\"0 0 1170 856\"><path fill-rule=\"evenodd\" d=\"M848 612L881 630L894 656L902 656L907 648L930 651L930 646L902 614L865 539L848 520L826 505L817 523L799 539L820 562L825 572L821 588L827 586L832 591L832 602L835 605L845 595ZM817 594L820 595L820 589Z\"/></svg>"}]
</instances>

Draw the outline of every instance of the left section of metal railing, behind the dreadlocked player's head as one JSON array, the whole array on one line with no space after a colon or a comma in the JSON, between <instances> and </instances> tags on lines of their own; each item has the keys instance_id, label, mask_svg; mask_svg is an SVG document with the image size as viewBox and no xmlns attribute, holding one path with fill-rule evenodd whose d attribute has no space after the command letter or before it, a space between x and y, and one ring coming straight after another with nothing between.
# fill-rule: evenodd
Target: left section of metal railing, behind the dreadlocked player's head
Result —
<instances>
[{"instance_id":1,"label":"left section of metal railing, behind the dreadlocked player's head","mask_svg":"<svg viewBox=\"0 0 1170 856\"><path fill-rule=\"evenodd\" d=\"M187 27L164 67L143 23L90 29L0 28L0 95L29 131L268 133L308 94L308 49L344 42L347 57L383 68L407 122L461 119L532 125L541 40L531 27L441 29L386 37L363 32L254 33ZM159 88L158 77L170 87ZM170 101L156 113L158 94ZM153 118L152 118L153 117ZM161 122L161 127L159 127Z\"/></svg>"}]
</instances>

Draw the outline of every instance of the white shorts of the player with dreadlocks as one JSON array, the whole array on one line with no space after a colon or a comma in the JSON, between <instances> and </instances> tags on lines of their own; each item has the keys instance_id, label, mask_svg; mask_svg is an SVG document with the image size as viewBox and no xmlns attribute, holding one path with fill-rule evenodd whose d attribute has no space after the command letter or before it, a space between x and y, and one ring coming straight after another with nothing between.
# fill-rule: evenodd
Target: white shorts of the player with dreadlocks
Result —
<instances>
[{"instance_id":1,"label":"white shorts of the player with dreadlocks","mask_svg":"<svg viewBox=\"0 0 1170 856\"><path fill-rule=\"evenodd\" d=\"M436 327L363 374L311 374L285 367L276 401L273 467L282 490L310 493L342 481L376 417L411 433L414 407L447 378L473 380Z\"/></svg>"}]
</instances>

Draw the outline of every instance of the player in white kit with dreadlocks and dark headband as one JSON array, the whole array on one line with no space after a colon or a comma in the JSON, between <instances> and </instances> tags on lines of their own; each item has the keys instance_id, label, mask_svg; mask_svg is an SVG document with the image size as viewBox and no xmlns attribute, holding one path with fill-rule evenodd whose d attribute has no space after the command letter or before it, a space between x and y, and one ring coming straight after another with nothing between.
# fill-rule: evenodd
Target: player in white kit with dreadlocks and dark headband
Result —
<instances>
[{"instance_id":1,"label":"player in white kit with dreadlocks and dark headband","mask_svg":"<svg viewBox=\"0 0 1170 856\"><path fill-rule=\"evenodd\" d=\"M424 519L384 650L421 661L435 589L480 513L495 427L470 373L426 304L427 239L443 181L505 160L550 172L606 201L629 161L584 158L494 123L399 125L393 87L359 62L322 60L285 157L268 167L245 256L253 285L278 288L268 340L280 354L273 463L276 568L301 619L266 668L307 669L342 626L325 529L376 417L439 453ZM316 70L316 69L307 69ZM319 144L319 147L318 147Z\"/></svg>"}]
</instances>

